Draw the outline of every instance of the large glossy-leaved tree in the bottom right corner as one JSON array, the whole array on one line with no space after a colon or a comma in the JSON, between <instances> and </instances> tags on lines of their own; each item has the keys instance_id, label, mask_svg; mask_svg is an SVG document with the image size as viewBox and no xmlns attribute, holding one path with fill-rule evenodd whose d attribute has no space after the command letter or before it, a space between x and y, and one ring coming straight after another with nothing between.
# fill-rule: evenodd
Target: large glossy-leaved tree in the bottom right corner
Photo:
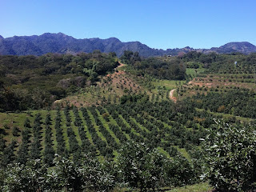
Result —
<instances>
[{"instance_id":1,"label":"large glossy-leaved tree in the bottom right corner","mask_svg":"<svg viewBox=\"0 0 256 192\"><path fill-rule=\"evenodd\" d=\"M206 178L222 191L256 189L256 131L230 126L222 121L209 130L206 150Z\"/></svg>"}]
</instances>

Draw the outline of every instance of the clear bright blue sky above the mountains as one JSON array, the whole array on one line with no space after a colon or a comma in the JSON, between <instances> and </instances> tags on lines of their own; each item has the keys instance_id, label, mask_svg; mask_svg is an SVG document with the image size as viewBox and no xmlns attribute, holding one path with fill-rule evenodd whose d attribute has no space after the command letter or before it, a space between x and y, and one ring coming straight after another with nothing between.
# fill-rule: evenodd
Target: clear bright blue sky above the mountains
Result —
<instances>
[{"instance_id":1,"label":"clear bright blue sky above the mountains","mask_svg":"<svg viewBox=\"0 0 256 192\"><path fill-rule=\"evenodd\" d=\"M0 34L119 38L157 49L256 45L255 0L0 0Z\"/></svg>"}]
</instances>

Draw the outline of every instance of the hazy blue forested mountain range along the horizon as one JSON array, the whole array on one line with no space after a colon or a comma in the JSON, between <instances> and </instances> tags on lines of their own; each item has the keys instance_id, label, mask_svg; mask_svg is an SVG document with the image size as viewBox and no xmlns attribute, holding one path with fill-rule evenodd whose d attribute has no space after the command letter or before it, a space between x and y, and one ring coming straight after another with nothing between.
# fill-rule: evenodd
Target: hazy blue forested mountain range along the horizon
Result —
<instances>
[{"instance_id":1,"label":"hazy blue forested mountain range along the horizon","mask_svg":"<svg viewBox=\"0 0 256 192\"><path fill-rule=\"evenodd\" d=\"M94 50L101 50L104 53L115 52L121 56L124 50L138 51L143 57L178 55L192 50L218 54L230 54L240 52L250 54L256 52L256 46L250 42L229 42L224 46L212 47L210 49L194 49L189 46L167 50L150 48L141 42L121 42L118 38L84 38L76 39L66 34L42 34L32 36L14 36L3 38L0 35L0 54L12 55L42 55L47 53L76 54L79 52L90 53Z\"/></svg>"}]
</instances>

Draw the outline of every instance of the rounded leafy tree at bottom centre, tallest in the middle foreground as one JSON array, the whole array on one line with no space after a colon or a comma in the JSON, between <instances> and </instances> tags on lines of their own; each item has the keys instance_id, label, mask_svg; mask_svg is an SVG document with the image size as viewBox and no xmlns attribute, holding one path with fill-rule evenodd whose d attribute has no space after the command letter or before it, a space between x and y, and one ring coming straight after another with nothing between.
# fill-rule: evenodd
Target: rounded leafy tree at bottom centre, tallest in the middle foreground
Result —
<instances>
[{"instance_id":1,"label":"rounded leafy tree at bottom centre, tallest in the middle foreground","mask_svg":"<svg viewBox=\"0 0 256 192\"><path fill-rule=\"evenodd\" d=\"M118 155L118 170L129 186L141 191L163 185L165 158L143 143L128 142Z\"/></svg>"}]
</instances>

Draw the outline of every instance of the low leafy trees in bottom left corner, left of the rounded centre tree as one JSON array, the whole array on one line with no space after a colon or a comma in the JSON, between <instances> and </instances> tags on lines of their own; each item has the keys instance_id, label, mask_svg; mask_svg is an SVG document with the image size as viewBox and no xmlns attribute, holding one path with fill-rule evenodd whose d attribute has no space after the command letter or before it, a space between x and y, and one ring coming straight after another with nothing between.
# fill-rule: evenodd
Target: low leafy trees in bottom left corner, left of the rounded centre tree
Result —
<instances>
[{"instance_id":1,"label":"low leafy trees in bottom left corner, left of the rounded centre tree","mask_svg":"<svg viewBox=\"0 0 256 192\"><path fill-rule=\"evenodd\" d=\"M116 185L112 162L100 163L86 156L76 166L58 155L54 167L34 160L26 165L13 163L0 170L1 191L110 191Z\"/></svg>"}]
</instances>

